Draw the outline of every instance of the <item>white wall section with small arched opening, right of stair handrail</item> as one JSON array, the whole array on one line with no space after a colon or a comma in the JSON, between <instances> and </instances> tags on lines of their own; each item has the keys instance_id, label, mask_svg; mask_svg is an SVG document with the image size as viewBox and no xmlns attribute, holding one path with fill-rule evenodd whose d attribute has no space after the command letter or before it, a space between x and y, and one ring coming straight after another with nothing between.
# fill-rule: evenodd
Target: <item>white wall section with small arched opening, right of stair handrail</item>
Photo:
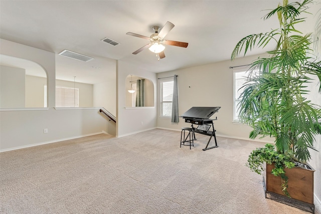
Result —
<instances>
[{"instance_id":1,"label":"white wall section with small arched opening, right of stair handrail","mask_svg":"<svg viewBox=\"0 0 321 214\"><path fill-rule=\"evenodd\" d=\"M126 77L130 74L149 79L153 82L156 88L156 74L143 69L137 68L134 65L117 61L116 66L117 78L117 129L116 136L124 136L130 133L148 130L156 127L156 107L138 107L125 108L126 106ZM156 92L154 92L156 97ZM154 106L155 106L154 101Z\"/></svg>"}]
</instances>

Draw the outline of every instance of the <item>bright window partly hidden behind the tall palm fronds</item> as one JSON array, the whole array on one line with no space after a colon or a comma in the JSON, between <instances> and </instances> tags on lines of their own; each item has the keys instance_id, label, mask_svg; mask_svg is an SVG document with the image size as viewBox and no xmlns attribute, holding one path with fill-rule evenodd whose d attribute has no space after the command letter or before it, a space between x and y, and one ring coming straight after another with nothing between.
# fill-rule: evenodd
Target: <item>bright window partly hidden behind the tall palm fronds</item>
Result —
<instances>
[{"instance_id":1,"label":"bright window partly hidden behind the tall palm fronds","mask_svg":"<svg viewBox=\"0 0 321 214\"><path fill-rule=\"evenodd\" d=\"M252 71L253 75L258 74L258 70ZM234 94L233 94L233 121L239 122L239 106L240 95L243 93L244 89L242 88L243 84L248 80L248 75L250 71L248 70L238 70L234 71Z\"/></svg>"}]
</instances>

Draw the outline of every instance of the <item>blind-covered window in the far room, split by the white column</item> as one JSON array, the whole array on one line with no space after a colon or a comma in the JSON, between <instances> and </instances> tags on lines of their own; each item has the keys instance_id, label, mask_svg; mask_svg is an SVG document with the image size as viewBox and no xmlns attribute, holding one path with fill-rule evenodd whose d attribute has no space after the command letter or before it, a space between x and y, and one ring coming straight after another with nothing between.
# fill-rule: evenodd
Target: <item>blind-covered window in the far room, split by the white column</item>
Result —
<instances>
[{"instance_id":1,"label":"blind-covered window in the far room, split by the white column","mask_svg":"<svg viewBox=\"0 0 321 214\"><path fill-rule=\"evenodd\" d=\"M45 93L45 107L47 107L46 101L47 93ZM56 86L56 107L79 107L79 88Z\"/></svg>"}]
</instances>

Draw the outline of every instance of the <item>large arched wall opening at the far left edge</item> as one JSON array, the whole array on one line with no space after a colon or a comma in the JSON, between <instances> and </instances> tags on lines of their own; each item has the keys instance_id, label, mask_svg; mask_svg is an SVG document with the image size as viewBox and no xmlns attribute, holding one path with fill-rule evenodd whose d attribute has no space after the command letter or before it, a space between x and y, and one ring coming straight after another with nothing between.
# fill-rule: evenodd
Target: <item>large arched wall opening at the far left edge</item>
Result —
<instances>
[{"instance_id":1,"label":"large arched wall opening at the far left edge","mask_svg":"<svg viewBox=\"0 0 321 214\"><path fill-rule=\"evenodd\" d=\"M47 72L36 62L0 55L0 108L48 106ZM47 97L47 96L46 96Z\"/></svg>"}]
</instances>

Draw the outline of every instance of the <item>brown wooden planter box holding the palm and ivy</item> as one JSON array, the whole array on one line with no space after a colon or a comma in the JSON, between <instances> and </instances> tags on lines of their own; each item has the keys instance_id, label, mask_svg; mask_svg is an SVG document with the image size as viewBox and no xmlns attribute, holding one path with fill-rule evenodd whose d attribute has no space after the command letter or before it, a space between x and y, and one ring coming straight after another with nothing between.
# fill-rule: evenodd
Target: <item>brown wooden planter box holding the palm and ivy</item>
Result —
<instances>
[{"instance_id":1,"label":"brown wooden planter box holding the palm and ivy","mask_svg":"<svg viewBox=\"0 0 321 214\"><path fill-rule=\"evenodd\" d=\"M272 195L273 197L268 198L314 213L313 172L315 170L312 169L311 166L309 167L311 169L304 169L300 167L284 169L285 175L288 177L287 191L291 196L291 198L289 198L282 192L281 177L274 176L271 173L272 169L274 168L274 164L265 163L266 170L264 171L263 176L265 197L267 197L267 194L269 194L269 196Z\"/></svg>"}]
</instances>

